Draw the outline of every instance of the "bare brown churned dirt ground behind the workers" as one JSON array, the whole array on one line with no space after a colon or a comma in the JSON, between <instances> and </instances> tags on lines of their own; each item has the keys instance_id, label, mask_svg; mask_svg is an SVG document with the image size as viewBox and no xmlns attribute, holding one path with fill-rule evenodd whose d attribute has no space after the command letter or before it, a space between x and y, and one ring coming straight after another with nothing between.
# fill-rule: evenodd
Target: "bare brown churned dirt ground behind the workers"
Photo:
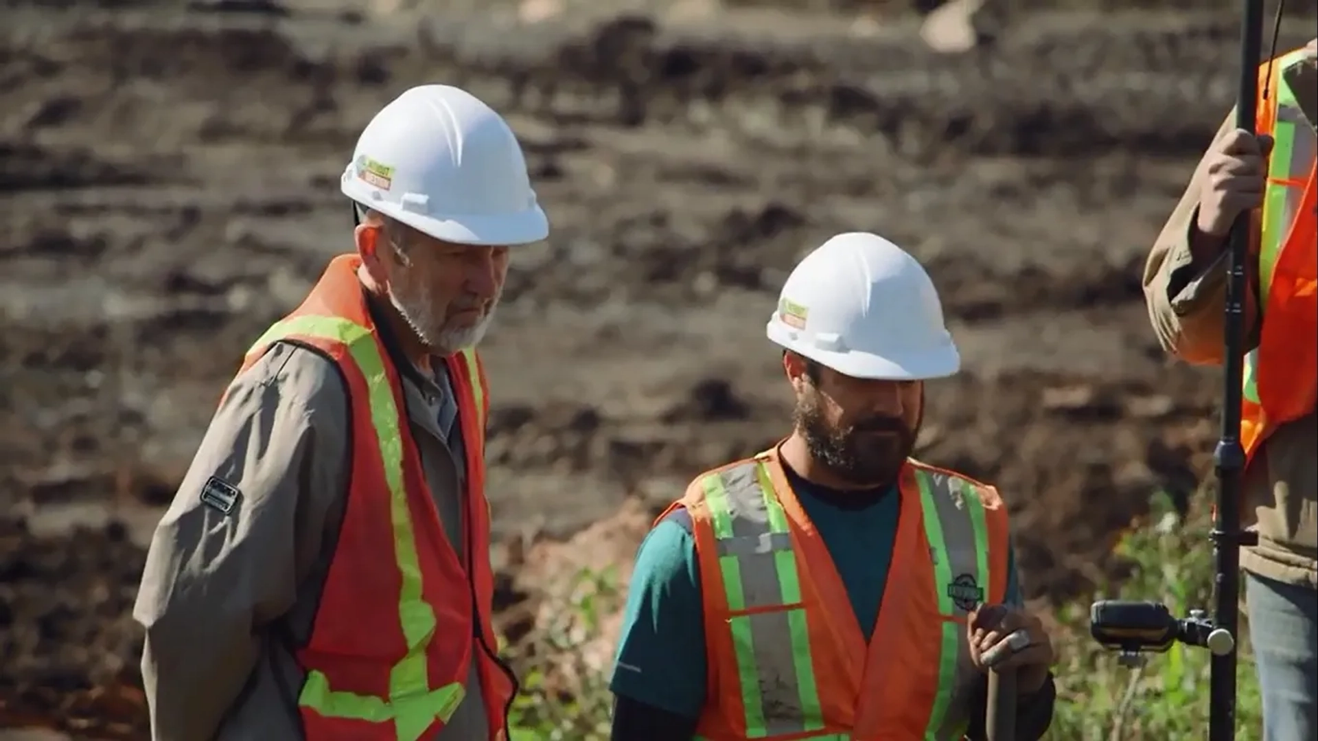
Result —
<instances>
[{"instance_id":1,"label":"bare brown churned dirt ground behind the workers","mask_svg":"<svg viewBox=\"0 0 1318 741\"><path fill-rule=\"evenodd\" d=\"M1218 376L1162 359L1140 270L1232 103L1234 4L996 3L962 53L934 4L7 0L0 728L145 737L141 543L422 82L507 115L554 228L485 345L501 607L784 434L764 320L850 229L929 266L962 348L921 458L1003 488L1032 596L1118 574L1149 494L1210 471Z\"/></svg>"}]
</instances>

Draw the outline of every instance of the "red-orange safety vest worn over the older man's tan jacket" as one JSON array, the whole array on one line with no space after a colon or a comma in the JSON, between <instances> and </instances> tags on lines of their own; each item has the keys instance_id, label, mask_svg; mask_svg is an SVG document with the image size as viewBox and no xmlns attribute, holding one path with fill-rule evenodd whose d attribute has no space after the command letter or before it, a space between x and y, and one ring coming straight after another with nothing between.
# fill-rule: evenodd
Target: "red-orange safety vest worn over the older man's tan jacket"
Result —
<instances>
[{"instance_id":1,"label":"red-orange safety vest worn over the older man's tan jacket","mask_svg":"<svg viewBox=\"0 0 1318 741\"><path fill-rule=\"evenodd\" d=\"M357 256L335 257L302 306L270 327L243 365L289 341L333 360L348 385L348 506L311 638L298 651L307 672L298 697L306 738L434 737L463 701L477 651L490 736L500 740L513 682L494 655L490 625L485 374L472 349L445 359L467 448L464 558L444 535L426 485L398 370L357 280L360 265Z\"/></svg>"}]
</instances>

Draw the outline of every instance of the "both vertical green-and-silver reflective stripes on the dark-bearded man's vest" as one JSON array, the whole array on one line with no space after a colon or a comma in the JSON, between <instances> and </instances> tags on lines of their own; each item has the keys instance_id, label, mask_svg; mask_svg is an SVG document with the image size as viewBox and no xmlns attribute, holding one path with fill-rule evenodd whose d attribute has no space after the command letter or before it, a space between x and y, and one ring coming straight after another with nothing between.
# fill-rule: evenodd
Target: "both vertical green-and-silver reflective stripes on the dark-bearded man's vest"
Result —
<instances>
[{"instance_id":1,"label":"both vertical green-and-silver reflective stripes on the dark-bearded man's vest","mask_svg":"<svg viewBox=\"0 0 1318 741\"><path fill-rule=\"evenodd\" d=\"M983 504L961 479L917 469L925 534L933 548L940 610L963 617L971 597L988 584L988 535ZM800 605L800 562L788 534L787 513L774 494L763 460L712 473L701 480L717 539L718 564L733 612L786 607L729 620L737 654L746 736L766 738L824 728L805 609ZM963 576L974 575L974 583ZM958 579L961 578L961 579ZM963 592L978 591L975 595ZM762 684L760 675L787 678ZM965 688L975 676L961 624L944 625L938 694L925 730L929 741L960 738L969 723ZM771 712L768 711L771 709ZM818 741L849 736L821 733Z\"/></svg>"}]
</instances>

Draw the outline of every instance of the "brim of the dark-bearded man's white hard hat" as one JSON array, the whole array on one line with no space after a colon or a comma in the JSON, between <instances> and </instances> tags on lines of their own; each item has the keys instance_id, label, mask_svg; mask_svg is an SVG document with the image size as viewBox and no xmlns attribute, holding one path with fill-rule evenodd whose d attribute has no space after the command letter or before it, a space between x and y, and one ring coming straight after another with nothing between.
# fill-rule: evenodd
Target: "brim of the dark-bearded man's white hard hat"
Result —
<instances>
[{"instance_id":1,"label":"brim of the dark-bearded man's white hard hat","mask_svg":"<svg viewBox=\"0 0 1318 741\"><path fill-rule=\"evenodd\" d=\"M844 376L869 381L928 381L956 376L961 370L961 353L948 341L919 351L875 355L858 349L833 351L801 341L797 332L778 322L770 322L768 339L804 357L832 368ZM793 336L796 335L796 336Z\"/></svg>"}]
</instances>

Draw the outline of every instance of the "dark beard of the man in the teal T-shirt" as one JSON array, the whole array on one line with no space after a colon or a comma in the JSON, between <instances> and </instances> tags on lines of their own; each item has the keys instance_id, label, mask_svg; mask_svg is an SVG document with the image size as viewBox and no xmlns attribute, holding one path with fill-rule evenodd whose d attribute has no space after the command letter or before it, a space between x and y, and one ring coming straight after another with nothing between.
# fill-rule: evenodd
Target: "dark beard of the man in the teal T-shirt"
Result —
<instances>
[{"instance_id":1,"label":"dark beard of the man in the teal T-shirt","mask_svg":"<svg viewBox=\"0 0 1318 741\"><path fill-rule=\"evenodd\" d=\"M816 392L817 393L817 392ZM894 484L915 450L915 430L891 417L871 418L846 427L830 427L815 393L808 393L792 414L811 458L837 477L861 487ZM871 432L890 432L876 435Z\"/></svg>"}]
</instances>

